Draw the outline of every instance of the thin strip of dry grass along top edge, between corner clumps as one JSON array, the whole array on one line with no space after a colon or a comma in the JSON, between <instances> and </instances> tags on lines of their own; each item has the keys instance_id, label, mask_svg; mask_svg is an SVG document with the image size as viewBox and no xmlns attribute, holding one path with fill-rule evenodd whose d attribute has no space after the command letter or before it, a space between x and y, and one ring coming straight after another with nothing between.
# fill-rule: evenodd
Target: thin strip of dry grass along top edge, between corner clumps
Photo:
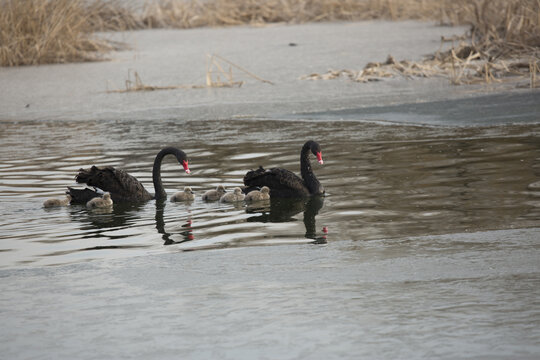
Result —
<instances>
[{"instance_id":1,"label":"thin strip of dry grass along top edge, between corner clumps","mask_svg":"<svg viewBox=\"0 0 540 360\"><path fill-rule=\"evenodd\" d=\"M439 0L157 0L148 3L148 27L260 25L368 19L427 19L443 12Z\"/></svg>"}]
</instances>

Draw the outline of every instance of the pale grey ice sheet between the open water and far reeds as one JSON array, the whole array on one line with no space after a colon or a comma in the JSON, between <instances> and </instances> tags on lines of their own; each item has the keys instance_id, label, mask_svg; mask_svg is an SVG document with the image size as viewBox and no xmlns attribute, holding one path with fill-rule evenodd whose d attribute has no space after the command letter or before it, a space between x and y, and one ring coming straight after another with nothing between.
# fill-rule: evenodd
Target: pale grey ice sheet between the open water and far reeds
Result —
<instances>
[{"instance_id":1,"label":"pale grey ice sheet between the open water and far reeds","mask_svg":"<svg viewBox=\"0 0 540 360\"><path fill-rule=\"evenodd\" d=\"M1 68L0 86L9 91L0 98L0 121L273 119L539 91L516 91L511 84L454 86L442 78L300 79L328 69L361 69L389 52L418 60L440 46L441 36L462 31L418 21L364 21L110 33L132 49L111 53L109 61ZM241 87L107 93L124 86L128 71L136 71L150 86L204 85L207 54L218 54L275 85L232 68Z\"/></svg>"}]
</instances>

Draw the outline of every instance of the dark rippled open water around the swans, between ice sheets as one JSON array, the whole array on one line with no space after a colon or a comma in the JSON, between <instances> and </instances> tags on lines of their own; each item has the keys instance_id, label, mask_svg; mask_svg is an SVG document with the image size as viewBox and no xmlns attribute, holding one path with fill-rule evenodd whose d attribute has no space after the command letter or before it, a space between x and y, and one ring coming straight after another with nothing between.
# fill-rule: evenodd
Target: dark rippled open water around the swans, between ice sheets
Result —
<instances>
[{"instance_id":1,"label":"dark rippled open water around the swans, between ice sheets","mask_svg":"<svg viewBox=\"0 0 540 360\"><path fill-rule=\"evenodd\" d=\"M178 250L366 241L534 227L540 219L539 125L445 128L356 121L149 121L0 123L0 266L67 264ZM251 168L299 172L305 140L324 199L265 208L204 203ZM189 205L116 204L44 209L80 167L113 165L152 189L160 148L189 157L191 175L164 161L168 194L189 185ZM167 245L167 246L164 246Z\"/></svg>"}]
</instances>

